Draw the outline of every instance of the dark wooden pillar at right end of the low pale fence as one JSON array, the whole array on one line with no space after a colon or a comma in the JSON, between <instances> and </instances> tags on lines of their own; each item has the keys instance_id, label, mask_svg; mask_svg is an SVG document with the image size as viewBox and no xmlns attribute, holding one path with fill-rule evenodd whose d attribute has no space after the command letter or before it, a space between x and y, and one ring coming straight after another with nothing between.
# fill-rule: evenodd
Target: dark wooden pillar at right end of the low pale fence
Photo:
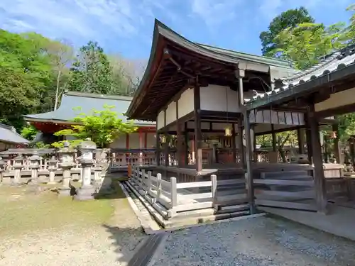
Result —
<instances>
[{"instance_id":1,"label":"dark wooden pillar at right end of the low pale fence","mask_svg":"<svg viewBox=\"0 0 355 266\"><path fill-rule=\"evenodd\" d=\"M244 115L244 128L245 128L245 140L246 140L246 191L248 195L248 201L250 204L250 214L255 213L254 206L254 192L253 192L253 172L251 169L251 162L253 160L253 155L251 152L251 127L249 121L249 111L245 112Z\"/></svg>"}]
</instances>

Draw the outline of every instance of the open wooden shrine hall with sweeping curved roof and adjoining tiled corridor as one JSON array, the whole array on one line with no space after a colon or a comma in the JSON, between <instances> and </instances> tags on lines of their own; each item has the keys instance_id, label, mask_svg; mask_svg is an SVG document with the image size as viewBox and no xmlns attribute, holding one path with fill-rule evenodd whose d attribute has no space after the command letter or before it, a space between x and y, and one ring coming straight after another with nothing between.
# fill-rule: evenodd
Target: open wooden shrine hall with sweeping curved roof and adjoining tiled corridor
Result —
<instances>
[{"instance_id":1,"label":"open wooden shrine hall with sweeping curved roof and adjoining tiled corridor","mask_svg":"<svg viewBox=\"0 0 355 266\"><path fill-rule=\"evenodd\" d=\"M343 85L320 81L337 76L349 56L340 51L300 72L284 60L193 43L155 21L148 66L126 115L156 121L162 159L153 172L163 179L201 182L215 174L217 198L227 196L225 206L247 204L251 214L256 206L325 212L318 126L334 119L317 112L325 113L329 95ZM300 128L310 164L253 160L256 134ZM339 165L334 169L340 176Z\"/></svg>"}]
</instances>

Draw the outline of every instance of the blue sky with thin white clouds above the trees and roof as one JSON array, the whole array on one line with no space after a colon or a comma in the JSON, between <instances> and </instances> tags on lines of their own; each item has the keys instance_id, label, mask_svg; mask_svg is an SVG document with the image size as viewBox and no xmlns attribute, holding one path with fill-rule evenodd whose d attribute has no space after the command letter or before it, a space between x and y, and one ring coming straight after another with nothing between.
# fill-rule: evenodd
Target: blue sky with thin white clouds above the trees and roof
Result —
<instances>
[{"instance_id":1,"label":"blue sky with thin white clouds above the trees and roof","mask_svg":"<svg viewBox=\"0 0 355 266\"><path fill-rule=\"evenodd\" d=\"M97 40L109 53L144 60L154 18L198 43L260 54L258 35L281 11L305 6L317 21L349 21L351 0L0 0L0 27Z\"/></svg>"}]
</instances>

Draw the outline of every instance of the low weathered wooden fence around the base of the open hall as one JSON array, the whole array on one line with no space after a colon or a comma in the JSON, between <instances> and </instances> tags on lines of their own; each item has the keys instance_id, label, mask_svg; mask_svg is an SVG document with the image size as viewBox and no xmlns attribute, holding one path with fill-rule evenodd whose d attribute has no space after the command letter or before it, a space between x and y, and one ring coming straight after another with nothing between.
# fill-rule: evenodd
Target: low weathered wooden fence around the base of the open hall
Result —
<instances>
[{"instance_id":1,"label":"low weathered wooden fence around the base of the open hall","mask_svg":"<svg viewBox=\"0 0 355 266\"><path fill-rule=\"evenodd\" d=\"M176 177L169 180L159 173L153 176L143 167L133 167L131 184L166 219L185 211L213 208L222 212L225 206L234 206L237 211L249 209L245 179L217 180L212 174L210 180L202 182L177 182Z\"/></svg>"}]
</instances>

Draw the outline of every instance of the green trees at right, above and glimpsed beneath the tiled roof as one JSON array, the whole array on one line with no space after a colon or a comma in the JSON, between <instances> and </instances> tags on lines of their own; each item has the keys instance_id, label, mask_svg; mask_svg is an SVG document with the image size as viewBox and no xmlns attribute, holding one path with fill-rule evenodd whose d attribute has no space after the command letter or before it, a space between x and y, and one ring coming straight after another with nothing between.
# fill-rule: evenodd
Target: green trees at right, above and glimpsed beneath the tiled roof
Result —
<instances>
[{"instance_id":1,"label":"green trees at right, above and glimpsed beneath the tiled roof","mask_svg":"<svg viewBox=\"0 0 355 266\"><path fill-rule=\"evenodd\" d=\"M262 51L270 57L291 60L295 67L305 70L320 62L324 55L355 43L355 5L347 9L353 12L349 23L339 22L330 26L315 23L304 8L290 9L276 16L271 21L268 32L261 33ZM355 114L348 113L338 116L339 138L341 143L346 143L351 135L355 135ZM327 136L332 130L322 128L322 133ZM295 132L279 133L279 138L285 139ZM325 138L327 144L330 138ZM271 145L270 136L259 137L259 143Z\"/></svg>"}]
</instances>

